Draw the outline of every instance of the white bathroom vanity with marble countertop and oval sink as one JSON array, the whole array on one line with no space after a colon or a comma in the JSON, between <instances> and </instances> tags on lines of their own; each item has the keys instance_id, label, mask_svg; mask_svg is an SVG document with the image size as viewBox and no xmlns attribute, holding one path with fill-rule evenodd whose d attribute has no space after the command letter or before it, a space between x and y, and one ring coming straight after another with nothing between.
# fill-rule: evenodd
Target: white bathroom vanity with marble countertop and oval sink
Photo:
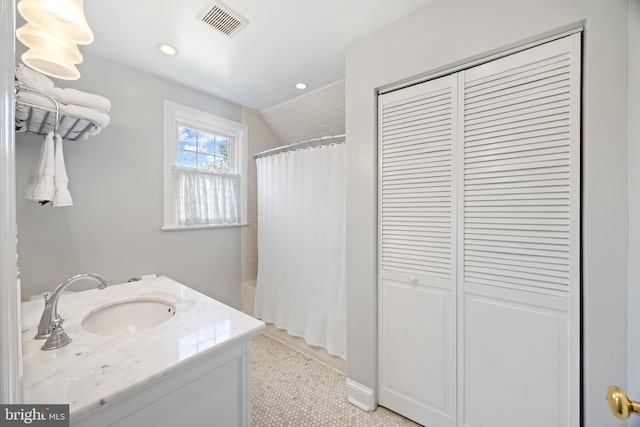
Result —
<instances>
[{"instance_id":1,"label":"white bathroom vanity with marble countertop and oval sink","mask_svg":"<svg viewBox=\"0 0 640 427\"><path fill-rule=\"evenodd\" d=\"M45 351L42 309L22 304L25 403L68 403L77 427L251 424L259 320L158 277L63 295L72 342Z\"/></svg>"}]
</instances>

